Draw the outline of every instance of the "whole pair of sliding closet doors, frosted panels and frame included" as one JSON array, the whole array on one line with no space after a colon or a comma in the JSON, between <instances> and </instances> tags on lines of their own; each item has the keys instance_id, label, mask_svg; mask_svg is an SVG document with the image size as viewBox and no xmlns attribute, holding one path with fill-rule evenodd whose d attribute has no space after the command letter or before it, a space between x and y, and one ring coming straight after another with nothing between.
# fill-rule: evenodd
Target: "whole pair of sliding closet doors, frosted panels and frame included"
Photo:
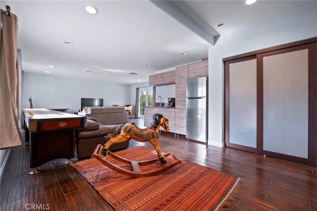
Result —
<instances>
[{"instance_id":1,"label":"whole pair of sliding closet doors, frosted panels and frame included","mask_svg":"<svg viewBox=\"0 0 317 211\"><path fill-rule=\"evenodd\" d=\"M317 38L223 61L225 146L317 166Z\"/></svg>"}]
</instances>

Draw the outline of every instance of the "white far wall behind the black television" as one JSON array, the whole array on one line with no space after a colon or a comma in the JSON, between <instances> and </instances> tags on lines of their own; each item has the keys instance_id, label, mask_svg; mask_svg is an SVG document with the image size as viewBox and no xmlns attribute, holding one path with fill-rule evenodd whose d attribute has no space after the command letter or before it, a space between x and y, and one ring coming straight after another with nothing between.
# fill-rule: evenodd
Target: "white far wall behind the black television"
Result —
<instances>
[{"instance_id":1,"label":"white far wall behind the black television","mask_svg":"<svg viewBox=\"0 0 317 211\"><path fill-rule=\"evenodd\" d=\"M130 85L24 73L23 108L69 108L78 112L81 98L102 98L104 106L130 104Z\"/></svg>"}]
</instances>

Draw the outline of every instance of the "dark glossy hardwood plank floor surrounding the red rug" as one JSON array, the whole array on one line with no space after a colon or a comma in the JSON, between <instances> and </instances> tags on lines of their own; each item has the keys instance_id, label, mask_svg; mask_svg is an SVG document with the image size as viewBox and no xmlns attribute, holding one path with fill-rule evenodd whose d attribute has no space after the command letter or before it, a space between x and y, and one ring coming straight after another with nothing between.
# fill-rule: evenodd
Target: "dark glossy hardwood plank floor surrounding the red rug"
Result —
<instances>
[{"instance_id":1,"label":"dark glossy hardwood plank floor surrounding the red rug","mask_svg":"<svg viewBox=\"0 0 317 211\"><path fill-rule=\"evenodd\" d=\"M153 148L134 140L129 148L138 145ZM171 133L162 132L159 145L162 152L243 179L231 211L317 211L316 167L212 147ZM0 181L1 211L112 210L74 168L64 164L66 159L43 164L35 175L27 174L28 160L28 148L11 150Z\"/></svg>"}]
</instances>

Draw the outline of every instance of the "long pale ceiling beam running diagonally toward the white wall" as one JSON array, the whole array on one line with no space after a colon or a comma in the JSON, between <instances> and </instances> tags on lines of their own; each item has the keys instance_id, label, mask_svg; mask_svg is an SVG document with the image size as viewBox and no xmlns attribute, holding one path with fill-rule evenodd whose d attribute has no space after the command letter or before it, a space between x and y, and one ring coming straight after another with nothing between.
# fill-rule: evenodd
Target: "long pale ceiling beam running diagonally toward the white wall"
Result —
<instances>
[{"instance_id":1,"label":"long pale ceiling beam running diagonally toward the white wall","mask_svg":"<svg viewBox=\"0 0 317 211\"><path fill-rule=\"evenodd\" d=\"M169 0L150 0L161 10L172 16L175 20L186 26L189 30L214 45L214 37L201 27L196 21L180 10L175 4Z\"/></svg>"}]
</instances>

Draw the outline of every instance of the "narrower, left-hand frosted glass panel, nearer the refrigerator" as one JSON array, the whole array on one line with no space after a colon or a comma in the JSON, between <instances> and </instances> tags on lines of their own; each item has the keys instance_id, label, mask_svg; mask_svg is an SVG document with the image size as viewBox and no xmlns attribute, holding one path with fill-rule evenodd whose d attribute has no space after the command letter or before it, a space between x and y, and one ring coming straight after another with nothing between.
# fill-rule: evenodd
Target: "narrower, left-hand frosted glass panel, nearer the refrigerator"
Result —
<instances>
[{"instance_id":1,"label":"narrower, left-hand frosted glass panel, nearer the refrigerator","mask_svg":"<svg viewBox=\"0 0 317 211\"><path fill-rule=\"evenodd\" d=\"M229 66L229 143L257 147L257 61Z\"/></svg>"}]
</instances>

